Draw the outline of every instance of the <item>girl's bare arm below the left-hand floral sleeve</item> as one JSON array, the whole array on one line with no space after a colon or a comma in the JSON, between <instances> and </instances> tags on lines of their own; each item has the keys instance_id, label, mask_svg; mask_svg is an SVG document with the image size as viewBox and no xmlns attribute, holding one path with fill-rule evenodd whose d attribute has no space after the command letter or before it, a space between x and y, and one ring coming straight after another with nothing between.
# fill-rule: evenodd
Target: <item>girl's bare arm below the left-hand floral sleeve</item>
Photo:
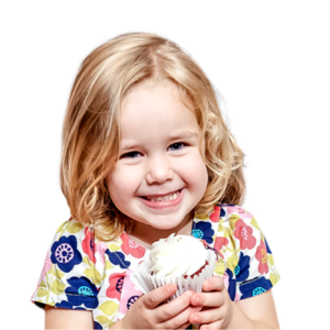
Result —
<instances>
[{"instance_id":1,"label":"girl's bare arm below the left-hand floral sleeve","mask_svg":"<svg viewBox=\"0 0 330 330\"><path fill-rule=\"evenodd\" d=\"M92 312L46 305L45 329L94 329Z\"/></svg>"}]
</instances>

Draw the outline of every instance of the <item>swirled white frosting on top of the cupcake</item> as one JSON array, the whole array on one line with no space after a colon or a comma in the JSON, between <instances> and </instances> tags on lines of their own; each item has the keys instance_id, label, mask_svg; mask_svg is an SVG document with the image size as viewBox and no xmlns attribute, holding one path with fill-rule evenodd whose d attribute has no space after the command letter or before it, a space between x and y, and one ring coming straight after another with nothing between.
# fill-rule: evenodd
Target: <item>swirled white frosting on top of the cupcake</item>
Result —
<instances>
[{"instance_id":1,"label":"swirled white frosting on top of the cupcake","mask_svg":"<svg viewBox=\"0 0 330 330\"><path fill-rule=\"evenodd\" d=\"M170 234L152 244L150 253L153 272L157 276L191 275L206 263L207 250L194 237Z\"/></svg>"}]
</instances>

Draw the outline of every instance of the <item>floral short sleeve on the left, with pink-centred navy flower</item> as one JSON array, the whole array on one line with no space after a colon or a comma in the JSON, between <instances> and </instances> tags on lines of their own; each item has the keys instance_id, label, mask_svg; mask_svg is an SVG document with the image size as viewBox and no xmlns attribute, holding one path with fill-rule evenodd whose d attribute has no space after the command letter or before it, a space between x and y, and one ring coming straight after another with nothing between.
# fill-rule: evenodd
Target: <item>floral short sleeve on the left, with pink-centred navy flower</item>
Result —
<instances>
[{"instance_id":1,"label":"floral short sleeve on the left, with pink-centred navy flower","mask_svg":"<svg viewBox=\"0 0 330 330\"><path fill-rule=\"evenodd\" d=\"M74 219L66 221L47 251L32 301L43 308L95 309L103 272L96 262L94 233Z\"/></svg>"}]
</instances>

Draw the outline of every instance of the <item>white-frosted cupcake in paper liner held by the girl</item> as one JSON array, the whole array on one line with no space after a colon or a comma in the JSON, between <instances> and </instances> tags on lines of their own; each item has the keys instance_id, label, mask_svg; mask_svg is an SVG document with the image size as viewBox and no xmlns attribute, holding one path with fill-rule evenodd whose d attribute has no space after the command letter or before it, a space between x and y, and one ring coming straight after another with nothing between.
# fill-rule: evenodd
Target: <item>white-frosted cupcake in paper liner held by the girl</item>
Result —
<instances>
[{"instance_id":1,"label":"white-frosted cupcake in paper liner held by the girl","mask_svg":"<svg viewBox=\"0 0 330 330\"><path fill-rule=\"evenodd\" d=\"M131 275L132 282L144 294L169 283L177 286L170 301L191 289L201 293L202 283L212 277L217 254L202 241L188 235L170 234L152 244L145 257Z\"/></svg>"}]
</instances>

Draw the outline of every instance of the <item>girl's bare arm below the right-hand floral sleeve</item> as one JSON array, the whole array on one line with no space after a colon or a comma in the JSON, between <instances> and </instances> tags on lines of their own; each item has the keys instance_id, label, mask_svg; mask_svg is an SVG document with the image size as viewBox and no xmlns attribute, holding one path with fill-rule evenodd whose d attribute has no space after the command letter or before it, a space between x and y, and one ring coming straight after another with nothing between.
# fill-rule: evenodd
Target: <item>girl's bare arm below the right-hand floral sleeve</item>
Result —
<instances>
[{"instance_id":1,"label":"girl's bare arm below the right-hand floral sleeve","mask_svg":"<svg viewBox=\"0 0 330 330\"><path fill-rule=\"evenodd\" d=\"M230 323L232 329L279 329L272 289L235 301L233 318Z\"/></svg>"}]
</instances>

